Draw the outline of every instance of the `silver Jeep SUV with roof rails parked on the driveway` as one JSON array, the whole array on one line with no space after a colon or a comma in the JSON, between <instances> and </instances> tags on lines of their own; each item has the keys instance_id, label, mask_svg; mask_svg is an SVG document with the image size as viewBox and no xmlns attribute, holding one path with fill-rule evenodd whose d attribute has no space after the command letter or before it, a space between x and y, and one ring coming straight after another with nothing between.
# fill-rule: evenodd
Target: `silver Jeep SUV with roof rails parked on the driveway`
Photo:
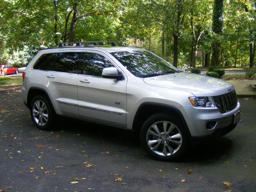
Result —
<instances>
[{"instance_id":1,"label":"silver Jeep SUV with roof rails parked on the driveway","mask_svg":"<svg viewBox=\"0 0 256 192\"><path fill-rule=\"evenodd\" d=\"M240 120L230 83L181 72L144 49L62 44L39 51L23 79L39 129L61 115L133 130L159 160L176 160L190 143L225 135Z\"/></svg>"}]
</instances>

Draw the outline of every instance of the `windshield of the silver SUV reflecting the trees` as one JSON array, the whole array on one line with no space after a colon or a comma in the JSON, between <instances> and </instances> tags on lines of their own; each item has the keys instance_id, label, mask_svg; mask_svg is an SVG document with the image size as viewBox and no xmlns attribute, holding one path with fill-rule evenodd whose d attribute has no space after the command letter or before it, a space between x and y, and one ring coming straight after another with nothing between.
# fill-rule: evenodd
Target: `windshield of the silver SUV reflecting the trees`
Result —
<instances>
[{"instance_id":1,"label":"windshield of the silver SUV reflecting the trees","mask_svg":"<svg viewBox=\"0 0 256 192\"><path fill-rule=\"evenodd\" d=\"M121 51L111 54L136 77L153 77L180 72L170 63L148 51Z\"/></svg>"}]
</instances>

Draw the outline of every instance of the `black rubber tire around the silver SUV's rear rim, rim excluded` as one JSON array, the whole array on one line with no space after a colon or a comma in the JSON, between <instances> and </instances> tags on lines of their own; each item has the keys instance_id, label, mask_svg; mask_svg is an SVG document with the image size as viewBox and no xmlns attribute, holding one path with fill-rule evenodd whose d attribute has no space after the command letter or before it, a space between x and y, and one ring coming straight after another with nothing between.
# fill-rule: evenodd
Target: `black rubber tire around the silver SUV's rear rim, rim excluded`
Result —
<instances>
[{"instance_id":1,"label":"black rubber tire around the silver SUV's rear rim, rim excluded","mask_svg":"<svg viewBox=\"0 0 256 192\"><path fill-rule=\"evenodd\" d=\"M48 110L48 121L45 125L39 125L38 123L35 122L34 117L33 117L33 105L34 102L37 100L41 100L46 104L47 110ZM30 115L32 118L33 123L40 129L40 130L49 130L51 128L52 122L53 122L53 110L51 107L51 104L49 103L48 99L46 99L44 96L37 95L35 96L31 103L30 103Z\"/></svg>"}]
</instances>

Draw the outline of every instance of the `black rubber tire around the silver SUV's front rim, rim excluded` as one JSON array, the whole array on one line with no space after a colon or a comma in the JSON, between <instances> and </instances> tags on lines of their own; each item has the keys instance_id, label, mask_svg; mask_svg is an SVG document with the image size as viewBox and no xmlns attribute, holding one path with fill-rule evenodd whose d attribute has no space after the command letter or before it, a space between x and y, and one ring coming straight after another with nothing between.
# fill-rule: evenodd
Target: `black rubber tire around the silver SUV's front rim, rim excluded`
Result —
<instances>
[{"instance_id":1,"label":"black rubber tire around the silver SUV's front rim, rim excluded","mask_svg":"<svg viewBox=\"0 0 256 192\"><path fill-rule=\"evenodd\" d=\"M176 152L173 155L170 156L160 156L155 154L150 147L147 145L146 141L146 133L147 130L150 128L151 125L158 121L169 121L174 123L178 129L180 130L181 136L182 136L182 144L178 152ZM166 115L166 114L155 114L146 119L146 121L143 123L140 131L140 142L142 147L145 149L145 151L152 157L162 160L162 161L176 161L179 160L184 154L188 147L189 143L189 137L188 134L184 128L184 125L180 122L179 118L172 115Z\"/></svg>"}]
</instances>

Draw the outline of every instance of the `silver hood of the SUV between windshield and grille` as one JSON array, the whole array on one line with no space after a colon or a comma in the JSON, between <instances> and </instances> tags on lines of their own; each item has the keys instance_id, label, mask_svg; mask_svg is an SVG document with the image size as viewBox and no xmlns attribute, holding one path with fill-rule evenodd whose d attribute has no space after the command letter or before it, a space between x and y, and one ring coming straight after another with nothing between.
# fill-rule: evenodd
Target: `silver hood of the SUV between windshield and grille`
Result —
<instances>
[{"instance_id":1,"label":"silver hood of the SUV between windshield and grille","mask_svg":"<svg viewBox=\"0 0 256 192\"><path fill-rule=\"evenodd\" d=\"M143 81L152 86L187 91L195 96L217 96L234 90L232 84L224 80L185 72L148 77Z\"/></svg>"}]
</instances>

